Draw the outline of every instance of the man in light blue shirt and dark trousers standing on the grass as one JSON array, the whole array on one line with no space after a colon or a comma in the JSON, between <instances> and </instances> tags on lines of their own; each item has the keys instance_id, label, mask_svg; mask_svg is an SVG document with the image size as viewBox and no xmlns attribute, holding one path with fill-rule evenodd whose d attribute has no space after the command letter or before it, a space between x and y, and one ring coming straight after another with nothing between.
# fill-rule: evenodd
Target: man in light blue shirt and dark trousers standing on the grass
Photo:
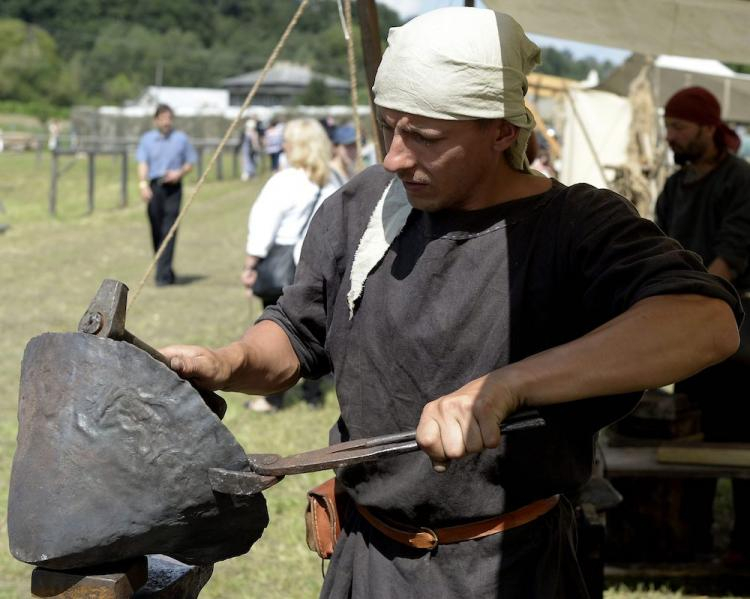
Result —
<instances>
[{"instance_id":1,"label":"man in light blue shirt and dark trousers standing on the grass","mask_svg":"<svg viewBox=\"0 0 750 599\"><path fill-rule=\"evenodd\" d=\"M143 134L138 149L138 188L148 205L151 238L154 252L161 246L169 229L177 219L182 201L182 178L196 161L195 149L187 135L172 127L174 112L166 104L159 104L154 115L155 129ZM173 237L156 264L156 285L172 285L174 256Z\"/></svg>"}]
</instances>

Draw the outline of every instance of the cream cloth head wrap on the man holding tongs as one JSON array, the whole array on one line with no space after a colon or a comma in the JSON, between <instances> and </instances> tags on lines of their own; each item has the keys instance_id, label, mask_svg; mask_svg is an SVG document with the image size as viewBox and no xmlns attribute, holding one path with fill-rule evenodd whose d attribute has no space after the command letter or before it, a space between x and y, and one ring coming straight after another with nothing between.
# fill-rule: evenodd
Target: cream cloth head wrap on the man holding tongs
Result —
<instances>
[{"instance_id":1,"label":"cream cloth head wrap on the man holding tongs","mask_svg":"<svg viewBox=\"0 0 750 599\"><path fill-rule=\"evenodd\" d=\"M451 7L415 17L388 33L375 104L445 120L502 118L520 127L511 165L526 169L534 117L523 98L539 48L510 16Z\"/></svg>"}]
</instances>

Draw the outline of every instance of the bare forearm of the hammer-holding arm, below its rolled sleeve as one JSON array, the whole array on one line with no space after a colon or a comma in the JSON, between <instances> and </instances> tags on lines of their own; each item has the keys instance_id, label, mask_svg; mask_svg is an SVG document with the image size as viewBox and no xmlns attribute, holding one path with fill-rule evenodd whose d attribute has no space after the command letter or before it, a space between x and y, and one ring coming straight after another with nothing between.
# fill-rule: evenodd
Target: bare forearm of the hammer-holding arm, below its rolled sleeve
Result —
<instances>
[{"instance_id":1,"label":"bare forearm of the hammer-holding arm, below its rolled sleeve","mask_svg":"<svg viewBox=\"0 0 750 599\"><path fill-rule=\"evenodd\" d=\"M235 343L217 350L225 363L225 391L265 395L288 389L299 379L300 364L284 330L261 321Z\"/></svg>"}]
</instances>

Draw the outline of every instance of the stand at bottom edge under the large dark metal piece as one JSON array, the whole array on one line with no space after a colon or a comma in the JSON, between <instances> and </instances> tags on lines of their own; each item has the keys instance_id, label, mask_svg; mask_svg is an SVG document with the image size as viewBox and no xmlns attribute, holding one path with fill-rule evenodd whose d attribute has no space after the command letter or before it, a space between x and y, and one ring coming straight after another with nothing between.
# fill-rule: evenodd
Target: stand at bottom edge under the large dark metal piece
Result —
<instances>
[{"instance_id":1,"label":"stand at bottom edge under the large dark metal piece","mask_svg":"<svg viewBox=\"0 0 750 599\"><path fill-rule=\"evenodd\" d=\"M165 555L80 570L31 574L31 596L45 599L195 599L213 565L188 566Z\"/></svg>"}]
</instances>

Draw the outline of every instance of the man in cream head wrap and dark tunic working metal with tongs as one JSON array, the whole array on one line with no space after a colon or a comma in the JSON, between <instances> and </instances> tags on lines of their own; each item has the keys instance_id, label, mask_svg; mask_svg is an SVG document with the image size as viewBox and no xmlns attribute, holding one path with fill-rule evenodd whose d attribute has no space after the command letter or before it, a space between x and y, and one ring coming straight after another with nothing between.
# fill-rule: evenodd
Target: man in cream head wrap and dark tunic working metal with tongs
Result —
<instances>
[{"instance_id":1,"label":"man in cream head wrap and dark tunic working metal with tongs","mask_svg":"<svg viewBox=\"0 0 750 599\"><path fill-rule=\"evenodd\" d=\"M512 18L440 9L388 42L383 165L325 201L242 339L164 351L213 389L332 370L331 441L417 427L424 453L338 472L360 509L321 597L585 597L564 494L641 390L736 350L739 301L623 198L528 171L539 49ZM548 425L501 440L526 407ZM409 546L421 527L454 542Z\"/></svg>"}]
</instances>

